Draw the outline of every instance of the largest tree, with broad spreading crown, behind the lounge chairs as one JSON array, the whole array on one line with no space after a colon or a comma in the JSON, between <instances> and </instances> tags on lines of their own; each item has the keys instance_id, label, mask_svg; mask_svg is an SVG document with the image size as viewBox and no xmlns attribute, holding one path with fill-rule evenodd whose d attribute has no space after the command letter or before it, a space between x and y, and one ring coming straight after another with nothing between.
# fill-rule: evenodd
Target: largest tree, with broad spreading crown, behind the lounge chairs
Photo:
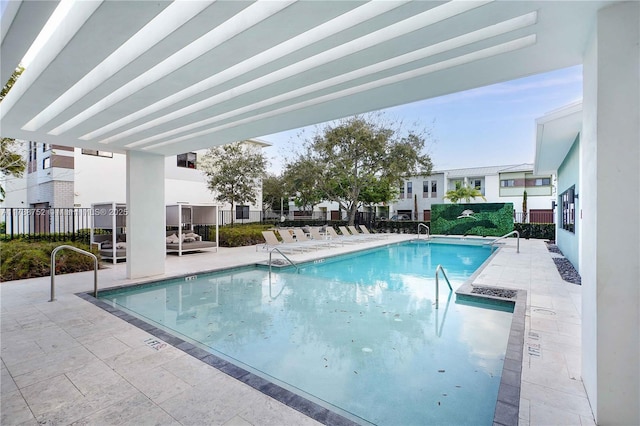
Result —
<instances>
[{"instance_id":1,"label":"largest tree, with broad spreading crown, behind the lounge chairs","mask_svg":"<svg viewBox=\"0 0 640 426\"><path fill-rule=\"evenodd\" d=\"M381 115L359 115L318 131L307 155L322 171L320 192L347 211L352 225L363 203L391 201L406 176L431 173L431 159L422 153L428 136Z\"/></svg>"}]
</instances>

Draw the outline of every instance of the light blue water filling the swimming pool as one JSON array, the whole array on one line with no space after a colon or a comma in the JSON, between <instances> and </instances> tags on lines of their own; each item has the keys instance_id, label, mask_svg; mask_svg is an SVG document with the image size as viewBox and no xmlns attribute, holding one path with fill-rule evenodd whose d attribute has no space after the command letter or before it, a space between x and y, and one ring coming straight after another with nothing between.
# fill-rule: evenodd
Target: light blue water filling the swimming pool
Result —
<instances>
[{"instance_id":1,"label":"light blue water filling the swimming pool","mask_svg":"<svg viewBox=\"0 0 640 426\"><path fill-rule=\"evenodd\" d=\"M511 311L456 303L444 281L434 306L438 264L455 289L489 255L410 242L100 298L362 423L491 424Z\"/></svg>"}]
</instances>

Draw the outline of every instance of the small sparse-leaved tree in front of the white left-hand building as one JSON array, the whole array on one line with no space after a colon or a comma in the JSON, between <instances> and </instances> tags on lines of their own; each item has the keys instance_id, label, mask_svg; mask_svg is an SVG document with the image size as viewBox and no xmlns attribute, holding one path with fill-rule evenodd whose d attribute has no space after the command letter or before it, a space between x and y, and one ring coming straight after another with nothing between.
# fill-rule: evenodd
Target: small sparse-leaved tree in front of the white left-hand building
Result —
<instances>
[{"instance_id":1,"label":"small sparse-leaved tree in front of the white left-hand building","mask_svg":"<svg viewBox=\"0 0 640 426\"><path fill-rule=\"evenodd\" d=\"M267 160L251 142L234 142L210 148L200 162L215 199L231 204L231 224L236 204L256 203Z\"/></svg>"}]
</instances>

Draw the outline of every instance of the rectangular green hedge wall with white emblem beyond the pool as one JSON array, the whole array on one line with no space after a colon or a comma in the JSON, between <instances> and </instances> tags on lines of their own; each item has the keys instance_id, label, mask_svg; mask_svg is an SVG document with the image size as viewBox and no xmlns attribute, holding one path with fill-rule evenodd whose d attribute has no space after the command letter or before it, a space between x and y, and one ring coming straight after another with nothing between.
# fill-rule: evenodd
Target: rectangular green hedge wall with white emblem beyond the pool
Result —
<instances>
[{"instance_id":1,"label":"rectangular green hedge wall with white emblem beyond the pool","mask_svg":"<svg viewBox=\"0 0 640 426\"><path fill-rule=\"evenodd\" d=\"M513 231L513 203L433 204L431 224L432 234L499 237Z\"/></svg>"}]
</instances>

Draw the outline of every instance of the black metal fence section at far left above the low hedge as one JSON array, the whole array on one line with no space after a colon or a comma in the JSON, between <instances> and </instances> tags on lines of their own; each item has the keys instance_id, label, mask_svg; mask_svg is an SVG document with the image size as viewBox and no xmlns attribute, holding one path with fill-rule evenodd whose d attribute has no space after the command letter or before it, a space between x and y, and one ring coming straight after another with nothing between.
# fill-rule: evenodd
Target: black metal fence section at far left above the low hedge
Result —
<instances>
[{"instance_id":1,"label":"black metal fence section at far left above the low hedge","mask_svg":"<svg viewBox=\"0 0 640 426\"><path fill-rule=\"evenodd\" d=\"M3 239L89 242L90 208L0 208L0 236Z\"/></svg>"}]
</instances>

